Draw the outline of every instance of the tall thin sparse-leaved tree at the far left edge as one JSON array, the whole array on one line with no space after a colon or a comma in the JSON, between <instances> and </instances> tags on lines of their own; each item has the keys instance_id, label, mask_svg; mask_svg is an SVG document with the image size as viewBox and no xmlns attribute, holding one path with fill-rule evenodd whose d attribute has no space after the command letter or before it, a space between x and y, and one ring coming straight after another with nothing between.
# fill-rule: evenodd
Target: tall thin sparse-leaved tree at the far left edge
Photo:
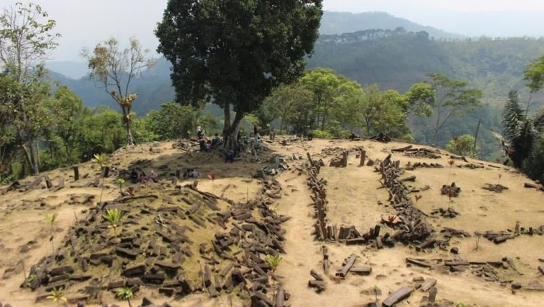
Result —
<instances>
[{"instance_id":1,"label":"tall thin sparse-leaved tree at the far left edge","mask_svg":"<svg viewBox=\"0 0 544 307\"><path fill-rule=\"evenodd\" d=\"M19 84L13 91L13 131L33 174L39 172L37 137L42 103L49 94L43 82L43 60L60 35L52 33L56 22L34 3L15 3L0 15L0 68Z\"/></svg>"}]
</instances>

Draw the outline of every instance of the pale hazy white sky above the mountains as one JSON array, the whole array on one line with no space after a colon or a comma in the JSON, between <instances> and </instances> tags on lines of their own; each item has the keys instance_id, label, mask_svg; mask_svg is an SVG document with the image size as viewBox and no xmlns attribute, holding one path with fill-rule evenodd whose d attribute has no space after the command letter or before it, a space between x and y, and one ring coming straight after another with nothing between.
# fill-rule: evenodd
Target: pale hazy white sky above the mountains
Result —
<instances>
[{"instance_id":1,"label":"pale hazy white sky above the mountains","mask_svg":"<svg viewBox=\"0 0 544 307\"><path fill-rule=\"evenodd\" d=\"M0 0L8 8L15 0ZM28 2L22 0L22 2ZM153 51L153 35L166 0L33 0L56 20L61 33L56 61L82 61L82 47L110 37L134 36ZM418 24L467 36L544 36L542 0L324 0L324 9L384 11Z\"/></svg>"}]
</instances>

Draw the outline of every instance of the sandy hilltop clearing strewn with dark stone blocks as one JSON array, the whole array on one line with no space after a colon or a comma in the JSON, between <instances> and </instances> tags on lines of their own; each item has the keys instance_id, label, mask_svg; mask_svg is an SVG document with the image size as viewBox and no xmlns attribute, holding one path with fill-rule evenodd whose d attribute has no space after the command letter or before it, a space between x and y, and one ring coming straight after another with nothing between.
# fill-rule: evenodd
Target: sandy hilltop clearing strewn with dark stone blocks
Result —
<instances>
[{"instance_id":1,"label":"sandy hilltop clearing strewn with dark stone blocks","mask_svg":"<svg viewBox=\"0 0 544 307\"><path fill-rule=\"evenodd\" d=\"M83 163L77 181L66 168L4 186L0 302L55 306L45 294L62 286L70 306L128 306L128 286L134 306L270 306L282 291L285 306L391 306L398 290L395 306L540 306L544 194L517 170L400 142L264 144L234 163L142 144L110 156L103 181ZM197 183L176 178L188 168ZM133 169L158 182L130 183Z\"/></svg>"}]
</instances>

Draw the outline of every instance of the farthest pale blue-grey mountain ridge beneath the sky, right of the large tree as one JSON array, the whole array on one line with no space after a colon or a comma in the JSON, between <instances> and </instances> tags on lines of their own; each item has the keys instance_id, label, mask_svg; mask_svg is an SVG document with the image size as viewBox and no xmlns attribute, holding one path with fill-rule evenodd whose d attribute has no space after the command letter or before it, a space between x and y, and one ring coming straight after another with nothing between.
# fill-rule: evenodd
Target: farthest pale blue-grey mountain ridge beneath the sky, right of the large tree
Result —
<instances>
[{"instance_id":1,"label":"farthest pale blue-grey mountain ridge beneath the sky, right of the large tree","mask_svg":"<svg viewBox=\"0 0 544 307\"><path fill-rule=\"evenodd\" d=\"M426 27L385 12L324 12L319 33L342 34L370 29L393 30L396 28L404 28L406 31L412 32L425 31L433 38L464 38L464 36L460 34L448 33L433 27Z\"/></svg>"}]
</instances>

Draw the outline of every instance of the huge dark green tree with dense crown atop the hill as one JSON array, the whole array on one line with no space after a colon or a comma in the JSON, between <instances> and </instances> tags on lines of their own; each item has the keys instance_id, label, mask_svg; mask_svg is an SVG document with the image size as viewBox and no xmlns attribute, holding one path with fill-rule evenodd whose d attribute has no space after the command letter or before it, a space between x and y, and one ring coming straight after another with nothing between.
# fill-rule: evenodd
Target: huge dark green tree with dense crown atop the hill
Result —
<instances>
[{"instance_id":1,"label":"huge dark green tree with dense crown atop the hill","mask_svg":"<svg viewBox=\"0 0 544 307\"><path fill-rule=\"evenodd\" d=\"M322 0L169 0L156 36L176 100L220 105L229 146L245 114L303 73L321 16Z\"/></svg>"}]
</instances>

